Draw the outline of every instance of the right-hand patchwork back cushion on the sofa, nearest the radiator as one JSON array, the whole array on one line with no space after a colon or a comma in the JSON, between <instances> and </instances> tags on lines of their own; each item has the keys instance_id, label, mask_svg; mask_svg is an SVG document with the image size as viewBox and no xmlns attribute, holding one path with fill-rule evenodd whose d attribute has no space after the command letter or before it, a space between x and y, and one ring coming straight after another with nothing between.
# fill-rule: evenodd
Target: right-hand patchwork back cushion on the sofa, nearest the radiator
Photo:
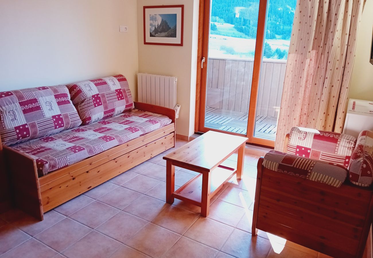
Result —
<instances>
[{"instance_id":1,"label":"right-hand patchwork back cushion on the sofa, nearest the radiator","mask_svg":"<svg viewBox=\"0 0 373 258\"><path fill-rule=\"evenodd\" d=\"M134 108L127 79L123 75L66 85L83 125Z\"/></svg>"}]
</instances>

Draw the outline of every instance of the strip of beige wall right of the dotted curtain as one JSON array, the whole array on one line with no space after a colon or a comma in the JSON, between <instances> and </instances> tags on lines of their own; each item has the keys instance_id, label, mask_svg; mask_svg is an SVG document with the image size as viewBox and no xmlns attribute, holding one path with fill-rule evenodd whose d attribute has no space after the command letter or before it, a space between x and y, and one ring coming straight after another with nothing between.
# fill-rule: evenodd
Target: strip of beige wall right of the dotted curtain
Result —
<instances>
[{"instance_id":1,"label":"strip of beige wall right of the dotted curtain","mask_svg":"<svg viewBox=\"0 0 373 258\"><path fill-rule=\"evenodd\" d=\"M367 0L361 16L350 84L350 98L373 100L373 65L369 63L372 47L373 0Z\"/></svg>"}]
</instances>

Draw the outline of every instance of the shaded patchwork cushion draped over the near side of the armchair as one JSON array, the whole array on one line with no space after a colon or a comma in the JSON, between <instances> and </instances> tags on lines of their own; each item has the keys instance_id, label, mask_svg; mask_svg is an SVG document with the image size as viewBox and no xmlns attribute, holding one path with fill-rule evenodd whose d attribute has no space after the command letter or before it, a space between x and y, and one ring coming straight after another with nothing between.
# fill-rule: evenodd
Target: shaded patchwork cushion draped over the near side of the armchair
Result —
<instances>
[{"instance_id":1,"label":"shaded patchwork cushion draped over the near side of the armchair","mask_svg":"<svg viewBox=\"0 0 373 258\"><path fill-rule=\"evenodd\" d=\"M348 170L336 163L303 158L280 151L269 151L264 156L267 169L302 177L312 181L339 187L345 181Z\"/></svg>"}]
</instances>

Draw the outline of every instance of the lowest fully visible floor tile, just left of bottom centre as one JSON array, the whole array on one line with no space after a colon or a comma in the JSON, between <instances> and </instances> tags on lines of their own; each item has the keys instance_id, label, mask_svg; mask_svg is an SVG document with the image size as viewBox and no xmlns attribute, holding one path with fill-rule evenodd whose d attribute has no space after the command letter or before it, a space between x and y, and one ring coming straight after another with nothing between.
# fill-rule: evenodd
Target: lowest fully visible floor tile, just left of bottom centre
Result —
<instances>
[{"instance_id":1,"label":"lowest fully visible floor tile, just left of bottom centre","mask_svg":"<svg viewBox=\"0 0 373 258\"><path fill-rule=\"evenodd\" d=\"M181 236L152 223L126 242L126 245L151 257L161 257Z\"/></svg>"}]
</instances>

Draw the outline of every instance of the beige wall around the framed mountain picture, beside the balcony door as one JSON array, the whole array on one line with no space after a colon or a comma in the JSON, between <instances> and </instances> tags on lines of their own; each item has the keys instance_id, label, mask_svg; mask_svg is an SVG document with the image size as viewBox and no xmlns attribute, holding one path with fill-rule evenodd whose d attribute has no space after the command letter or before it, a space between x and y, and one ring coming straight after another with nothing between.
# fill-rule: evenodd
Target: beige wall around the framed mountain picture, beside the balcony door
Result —
<instances>
[{"instance_id":1,"label":"beige wall around the framed mountain picture, beside the balcony door","mask_svg":"<svg viewBox=\"0 0 373 258\"><path fill-rule=\"evenodd\" d=\"M195 80L197 73L198 0L138 0L139 72L178 78L177 101L181 104L176 132L194 133ZM184 45L144 45L143 6L184 4Z\"/></svg>"}]
</instances>

